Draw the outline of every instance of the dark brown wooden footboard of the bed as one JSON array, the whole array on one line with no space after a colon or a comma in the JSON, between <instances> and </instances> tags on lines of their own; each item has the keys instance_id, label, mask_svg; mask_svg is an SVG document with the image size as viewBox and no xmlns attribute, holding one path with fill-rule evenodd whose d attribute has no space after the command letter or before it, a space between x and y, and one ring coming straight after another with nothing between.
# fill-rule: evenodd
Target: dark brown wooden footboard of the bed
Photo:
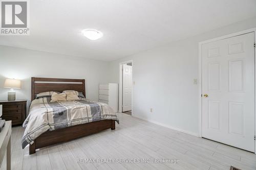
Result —
<instances>
[{"instance_id":1,"label":"dark brown wooden footboard of the bed","mask_svg":"<svg viewBox=\"0 0 256 170\"><path fill-rule=\"evenodd\" d=\"M38 136L32 144L29 144L29 155L34 154L36 149L47 147L51 144L66 142L106 129L115 130L115 122L115 120L99 120L54 131L46 131Z\"/></svg>"}]
</instances>

